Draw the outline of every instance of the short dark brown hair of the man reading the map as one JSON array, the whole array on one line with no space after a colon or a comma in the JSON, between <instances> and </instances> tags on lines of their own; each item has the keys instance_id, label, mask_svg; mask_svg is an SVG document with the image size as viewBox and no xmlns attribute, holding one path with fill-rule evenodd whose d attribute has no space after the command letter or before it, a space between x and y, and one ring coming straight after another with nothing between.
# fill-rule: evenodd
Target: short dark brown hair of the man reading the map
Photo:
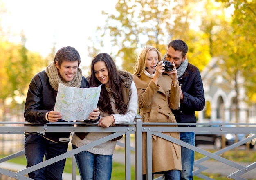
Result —
<instances>
[{"instance_id":1,"label":"short dark brown hair of the man reading the map","mask_svg":"<svg viewBox=\"0 0 256 180\"><path fill-rule=\"evenodd\" d=\"M78 51L70 46L59 49L54 57L54 63L58 62L59 66L63 61L78 61L78 65L81 63L80 55Z\"/></svg>"}]
</instances>

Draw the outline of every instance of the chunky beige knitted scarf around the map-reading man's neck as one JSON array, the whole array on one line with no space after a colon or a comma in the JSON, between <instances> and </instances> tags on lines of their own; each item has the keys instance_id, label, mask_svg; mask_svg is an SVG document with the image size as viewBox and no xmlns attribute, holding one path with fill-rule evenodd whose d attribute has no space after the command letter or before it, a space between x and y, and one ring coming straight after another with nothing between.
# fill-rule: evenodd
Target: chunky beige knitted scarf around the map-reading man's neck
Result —
<instances>
[{"instance_id":1,"label":"chunky beige knitted scarf around the map-reading man's neck","mask_svg":"<svg viewBox=\"0 0 256 180\"><path fill-rule=\"evenodd\" d=\"M78 68L76 75L72 81L63 81L58 73L58 69L54 62L50 63L45 70L47 76L49 77L50 84L54 90L58 91L59 83L65 86L80 88L82 82L82 70Z\"/></svg>"}]
</instances>

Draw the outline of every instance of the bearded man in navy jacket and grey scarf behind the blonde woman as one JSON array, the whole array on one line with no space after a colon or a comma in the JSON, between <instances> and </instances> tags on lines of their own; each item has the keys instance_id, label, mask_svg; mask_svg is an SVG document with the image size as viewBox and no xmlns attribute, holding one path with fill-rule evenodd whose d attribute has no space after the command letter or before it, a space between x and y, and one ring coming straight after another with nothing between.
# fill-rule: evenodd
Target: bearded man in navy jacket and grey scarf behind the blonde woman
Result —
<instances>
[{"instance_id":1,"label":"bearded man in navy jacket and grey scarf behind the blonde woman","mask_svg":"<svg viewBox=\"0 0 256 180\"><path fill-rule=\"evenodd\" d=\"M172 110L178 125L183 127L195 126L186 123L196 123L195 111L201 111L205 105L204 88L200 71L196 66L188 63L186 53L187 44L182 40L173 40L168 45L167 53L162 61L173 61L178 71L180 84L180 108ZM180 132L180 140L195 145L195 132ZM193 179L194 151L182 147L181 180Z\"/></svg>"}]
</instances>

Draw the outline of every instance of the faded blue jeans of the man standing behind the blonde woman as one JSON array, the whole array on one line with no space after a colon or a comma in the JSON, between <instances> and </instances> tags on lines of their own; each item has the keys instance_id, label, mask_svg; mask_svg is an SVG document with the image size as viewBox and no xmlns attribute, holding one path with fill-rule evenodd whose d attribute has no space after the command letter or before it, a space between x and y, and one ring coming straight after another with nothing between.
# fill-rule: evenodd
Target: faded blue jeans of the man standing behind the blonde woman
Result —
<instances>
[{"instance_id":1,"label":"faded blue jeans of the man standing behind the blonde woman","mask_svg":"<svg viewBox=\"0 0 256 180\"><path fill-rule=\"evenodd\" d=\"M180 140L190 145L195 145L195 132L180 132ZM182 171L181 180L193 180L194 151L181 147Z\"/></svg>"}]
</instances>

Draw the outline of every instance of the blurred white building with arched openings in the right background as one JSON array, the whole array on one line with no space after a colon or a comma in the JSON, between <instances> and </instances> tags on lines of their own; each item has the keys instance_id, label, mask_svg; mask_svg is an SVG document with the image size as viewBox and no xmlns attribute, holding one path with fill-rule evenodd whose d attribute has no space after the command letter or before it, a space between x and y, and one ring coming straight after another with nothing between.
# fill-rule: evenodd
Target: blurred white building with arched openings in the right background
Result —
<instances>
[{"instance_id":1,"label":"blurred white building with arched openings in the right background","mask_svg":"<svg viewBox=\"0 0 256 180\"><path fill-rule=\"evenodd\" d=\"M234 100L236 92L234 86L224 78L225 73L217 62L222 59L213 58L201 72L206 105L198 112L198 122L230 122L236 123ZM243 77L238 78L238 84L243 84ZM245 89L239 87L238 123L256 123L256 105L248 106ZM209 113L210 112L210 113Z\"/></svg>"}]
</instances>

